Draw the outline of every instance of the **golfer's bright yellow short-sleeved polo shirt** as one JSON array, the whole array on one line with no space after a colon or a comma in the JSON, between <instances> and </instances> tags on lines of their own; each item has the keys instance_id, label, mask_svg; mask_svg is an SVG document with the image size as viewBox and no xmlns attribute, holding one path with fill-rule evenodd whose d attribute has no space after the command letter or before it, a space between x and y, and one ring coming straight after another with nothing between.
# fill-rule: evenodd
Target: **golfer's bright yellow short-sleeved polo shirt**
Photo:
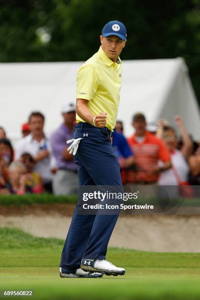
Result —
<instances>
[{"instance_id":1,"label":"golfer's bright yellow short-sleeved polo shirt","mask_svg":"<svg viewBox=\"0 0 200 300\"><path fill-rule=\"evenodd\" d=\"M119 62L119 63L118 63ZM120 102L122 62L113 62L100 47L78 70L76 99L89 100L90 111L107 113L106 127L113 131ZM76 114L76 122L85 122Z\"/></svg>"}]
</instances>

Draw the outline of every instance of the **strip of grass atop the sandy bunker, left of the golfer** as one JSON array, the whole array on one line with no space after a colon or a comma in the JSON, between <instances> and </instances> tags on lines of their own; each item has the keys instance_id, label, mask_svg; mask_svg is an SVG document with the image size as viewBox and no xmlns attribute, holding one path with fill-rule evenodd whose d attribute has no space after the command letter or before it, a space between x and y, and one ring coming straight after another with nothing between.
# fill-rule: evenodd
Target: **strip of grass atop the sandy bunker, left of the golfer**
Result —
<instances>
[{"instance_id":1,"label":"strip of grass atop the sandy bunker, left of the golfer","mask_svg":"<svg viewBox=\"0 0 200 300\"><path fill-rule=\"evenodd\" d=\"M33 204L33 203L76 203L77 196L55 196L52 194L42 195L0 195L0 205L20 205L20 204Z\"/></svg>"}]
</instances>

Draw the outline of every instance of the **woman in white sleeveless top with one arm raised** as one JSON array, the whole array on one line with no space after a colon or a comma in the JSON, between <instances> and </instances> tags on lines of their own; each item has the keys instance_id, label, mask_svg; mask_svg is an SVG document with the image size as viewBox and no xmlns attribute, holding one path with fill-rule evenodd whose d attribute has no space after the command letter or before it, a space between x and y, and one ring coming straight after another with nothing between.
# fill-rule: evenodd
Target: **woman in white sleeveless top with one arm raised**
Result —
<instances>
[{"instance_id":1,"label":"woman in white sleeveless top with one arm raised","mask_svg":"<svg viewBox=\"0 0 200 300\"><path fill-rule=\"evenodd\" d=\"M177 149L178 139L175 129L171 126L163 126L162 123L159 124L158 130L159 132L162 131L161 137L171 153L173 166L171 169L160 174L159 185L180 185L188 181L188 158L192 153L193 143L180 116L175 116L175 123L179 127L182 136L183 144L181 150Z\"/></svg>"}]
</instances>

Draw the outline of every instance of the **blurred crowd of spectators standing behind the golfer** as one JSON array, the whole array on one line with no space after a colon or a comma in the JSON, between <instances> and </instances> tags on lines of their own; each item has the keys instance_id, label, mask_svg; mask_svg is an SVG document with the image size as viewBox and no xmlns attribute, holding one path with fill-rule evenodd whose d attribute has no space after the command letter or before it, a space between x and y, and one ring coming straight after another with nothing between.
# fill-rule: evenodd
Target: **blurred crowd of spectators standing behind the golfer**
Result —
<instances>
[{"instance_id":1,"label":"blurred crowd of spectators standing behind the golfer","mask_svg":"<svg viewBox=\"0 0 200 300\"><path fill-rule=\"evenodd\" d=\"M66 144L73 137L75 105L63 105L61 113L63 123L47 137L45 116L31 112L15 149L0 126L0 194L77 192L78 166ZM134 133L126 139L123 123L117 121L112 145L124 185L200 185L200 145L193 141L180 116L175 116L175 123L180 138L167 120L147 124L146 116L136 113Z\"/></svg>"}]
</instances>

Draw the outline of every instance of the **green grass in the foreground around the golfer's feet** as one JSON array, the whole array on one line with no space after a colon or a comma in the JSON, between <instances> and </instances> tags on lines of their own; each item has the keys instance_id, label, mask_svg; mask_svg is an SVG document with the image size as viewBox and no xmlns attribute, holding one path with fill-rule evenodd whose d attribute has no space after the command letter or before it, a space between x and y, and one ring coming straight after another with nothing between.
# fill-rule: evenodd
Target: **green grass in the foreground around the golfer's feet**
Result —
<instances>
[{"instance_id":1,"label":"green grass in the foreground around the golfer's feet","mask_svg":"<svg viewBox=\"0 0 200 300\"><path fill-rule=\"evenodd\" d=\"M0 290L33 290L33 299L38 300L200 299L200 253L110 248L106 258L125 267L124 276L60 278L63 244L60 239L0 228Z\"/></svg>"}]
</instances>

